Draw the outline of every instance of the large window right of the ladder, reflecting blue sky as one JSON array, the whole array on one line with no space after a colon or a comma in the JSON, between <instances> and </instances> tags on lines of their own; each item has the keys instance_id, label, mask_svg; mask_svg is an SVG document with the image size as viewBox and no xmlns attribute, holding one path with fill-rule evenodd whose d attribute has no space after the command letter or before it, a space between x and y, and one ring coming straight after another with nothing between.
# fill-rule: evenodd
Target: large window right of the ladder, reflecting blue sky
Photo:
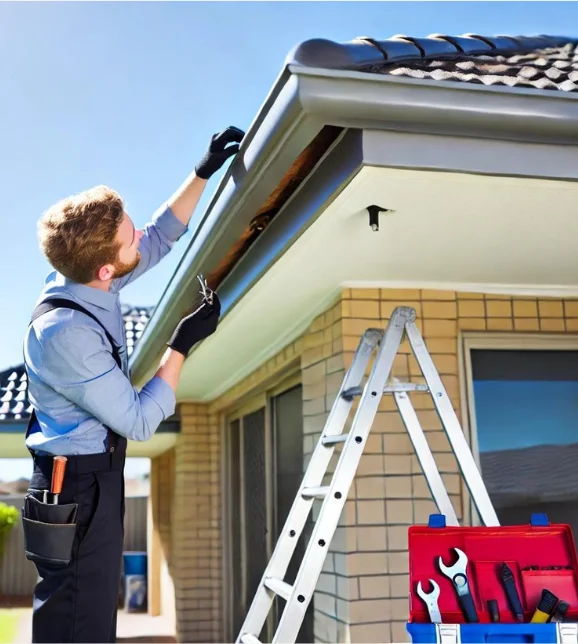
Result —
<instances>
[{"instance_id":1,"label":"large window right of the ladder, reflecting blue sky","mask_svg":"<svg viewBox=\"0 0 578 644\"><path fill-rule=\"evenodd\" d=\"M465 341L470 422L503 525L529 523L539 512L578 535L578 343L572 342L563 336Z\"/></svg>"}]
</instances>

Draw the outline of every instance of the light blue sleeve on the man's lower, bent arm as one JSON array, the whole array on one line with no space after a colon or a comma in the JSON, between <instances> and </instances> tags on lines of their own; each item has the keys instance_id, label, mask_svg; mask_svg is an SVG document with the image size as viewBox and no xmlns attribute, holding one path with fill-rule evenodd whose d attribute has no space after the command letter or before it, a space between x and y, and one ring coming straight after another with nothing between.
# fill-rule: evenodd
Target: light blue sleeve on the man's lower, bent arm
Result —
<instances>
[{"instance_id":1,"label":"light blue sleeve on the man's lower, bent arm","mask_svg":"<svg viewBox=\"0 0 578 644\"><path fill-rule=\"evenodd\" d=\"M138 392L119 369L100 331L88 325L68 325L46 341L42 378L104 425L134 441L150 439L175 411L175 394L164 380L155 376Z\"/></svg>"}]
</instances>

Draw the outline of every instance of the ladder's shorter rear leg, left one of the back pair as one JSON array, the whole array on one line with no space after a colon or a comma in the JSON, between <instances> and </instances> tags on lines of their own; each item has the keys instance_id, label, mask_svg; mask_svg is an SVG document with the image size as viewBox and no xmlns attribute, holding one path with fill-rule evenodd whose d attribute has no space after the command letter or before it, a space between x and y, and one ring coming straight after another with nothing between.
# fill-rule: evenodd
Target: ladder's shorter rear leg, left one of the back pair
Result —
<instances>
[{"instance_id":1,"label":"ladder's shorter rear leg, left one of the back pair","mask_svg":"<svg viewBox=\"0 0 578 644\"><path fill-rule=\"evenodd\" d=\"M406 392L396 392L393 395L407 433L413 443L417 459L425 475L431 495L440 513L445 515L447 525L459 526L460 522L458 521L455 508L408 394Z\"/></svg>"}]
</instances>

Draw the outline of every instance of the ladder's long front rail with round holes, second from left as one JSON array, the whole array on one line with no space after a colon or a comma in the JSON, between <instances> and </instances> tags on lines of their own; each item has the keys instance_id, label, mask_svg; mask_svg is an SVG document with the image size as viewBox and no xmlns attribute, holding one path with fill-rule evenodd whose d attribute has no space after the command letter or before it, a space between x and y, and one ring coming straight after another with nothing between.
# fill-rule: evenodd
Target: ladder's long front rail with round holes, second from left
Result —
<instances>
[{"instance_id":1,"label":"ladder's long front rail with round holes, second from left","mask_svg":"<svg viewBox=\"0 0 578 644\"><path fill-rule=\"evenodd\" d=\"M415 311L400 307L390 318L375 358L373 369L364 388L355 413L349 436L335 469L329 494L323 501L315 522L307 550L297 573L293 591L279 620L272 644L295 642L307 607L311 602L329 545L335 534L351 483L363 455L367 436L383 397L383 390L393 367L408 319L415 319Z\"/></svg>"}]
</instances>

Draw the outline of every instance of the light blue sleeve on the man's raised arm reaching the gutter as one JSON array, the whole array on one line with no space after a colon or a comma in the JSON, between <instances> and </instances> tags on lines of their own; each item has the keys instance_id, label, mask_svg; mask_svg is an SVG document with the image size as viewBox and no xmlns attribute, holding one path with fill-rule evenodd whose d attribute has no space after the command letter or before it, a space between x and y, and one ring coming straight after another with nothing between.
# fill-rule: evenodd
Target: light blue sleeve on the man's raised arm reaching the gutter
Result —
<instances>
[{"instance_id":1,"label":"light blue sleeve on the man's raised arm reaching the gutter","mask_svg":"<svg viewBox=\"0 0 578 644\"><path fill-rule=\"evenodd\" d=\"M139 245L141 260L138 266L128 275L112 280L110 290L120 291L156 266L186 231L187 226L177 219L169 206L159 209L152 222L144 227L144 235Z\"/></svg>"}]
</instances>

